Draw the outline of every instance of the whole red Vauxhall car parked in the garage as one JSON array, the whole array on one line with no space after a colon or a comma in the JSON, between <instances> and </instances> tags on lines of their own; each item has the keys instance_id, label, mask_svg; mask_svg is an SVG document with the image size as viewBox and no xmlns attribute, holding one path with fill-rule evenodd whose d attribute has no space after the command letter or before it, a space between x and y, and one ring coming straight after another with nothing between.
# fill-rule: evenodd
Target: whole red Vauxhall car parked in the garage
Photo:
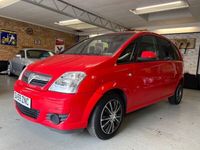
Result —
<instances>
[{"instance_id":1,"label":"whole red Vauxhall car parked in the garage","mask_svg":"<svg viewBox=\"0 0 200 150\"><path fill-rule=\"evenodd\" d=\"M18 113L58 130L87 128L113 137L124 115L183 95L183 60L176 46L149 33L86 39L63 54L29 65L14 86Z\"/></svg>"}]
</instances>

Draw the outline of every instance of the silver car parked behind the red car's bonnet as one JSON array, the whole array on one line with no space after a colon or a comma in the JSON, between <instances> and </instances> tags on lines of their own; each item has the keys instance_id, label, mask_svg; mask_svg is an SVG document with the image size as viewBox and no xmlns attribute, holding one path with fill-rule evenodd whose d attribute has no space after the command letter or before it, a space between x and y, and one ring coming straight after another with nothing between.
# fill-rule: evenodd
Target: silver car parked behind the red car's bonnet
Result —
<instances>
[{"instance_id":1,"label":"silver car parked behind the red car's bonnet","mask_svg":"<svg viewBox=\"0 0 200 150\"><path fill-rule=\"evenodd\" d=\"M8 75L19 76L23 69L29 64L53 56L54 53L46 49L26 48L19 51L14 59L10 60L8 65Z\"/></svg>"}]
</instances>

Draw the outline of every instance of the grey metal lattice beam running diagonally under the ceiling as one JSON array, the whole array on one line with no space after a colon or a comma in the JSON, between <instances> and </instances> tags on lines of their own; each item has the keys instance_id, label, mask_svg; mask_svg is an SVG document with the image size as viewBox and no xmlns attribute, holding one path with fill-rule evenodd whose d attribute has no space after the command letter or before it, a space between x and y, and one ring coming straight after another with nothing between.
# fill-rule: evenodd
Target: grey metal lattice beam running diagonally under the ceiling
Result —
<instances>
[{"instance_id":1,"label":"grey metal lattice beam running diagonally under the ceiling","mask_svg":"<svg viewBox=\"0 0 200 150\"><path fill-rule=\"evenodd\" d=\"M108 20L102 16L98 16L92 12L89 12L85 9L79 8L73 4L70 4L64 0L22 0L27 3L54 11L56 13L79 19L88 24L98 26L110 31L124 31L128 30L127 27L124 27L118 23L115 23L111 20Z\"/></svg>"}]
</instances>

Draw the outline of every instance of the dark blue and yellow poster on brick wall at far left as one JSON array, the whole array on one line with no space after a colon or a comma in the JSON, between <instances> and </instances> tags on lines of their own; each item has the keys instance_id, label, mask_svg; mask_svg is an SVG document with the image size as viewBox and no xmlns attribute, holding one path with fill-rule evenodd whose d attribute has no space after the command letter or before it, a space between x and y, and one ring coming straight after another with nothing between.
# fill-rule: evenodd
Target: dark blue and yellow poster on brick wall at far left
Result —
<instances>
[{"instance_id":1,"label":"dark blue and yellow poster on brick wall at far left","mask_svg":"<svg viewBox=\"0 0 200 150\"><path fill-rule=\"evenodd\" d=\"M0 44L8 46L17 46L16 32L0 30Z\"/></svg>"}]
</instances>

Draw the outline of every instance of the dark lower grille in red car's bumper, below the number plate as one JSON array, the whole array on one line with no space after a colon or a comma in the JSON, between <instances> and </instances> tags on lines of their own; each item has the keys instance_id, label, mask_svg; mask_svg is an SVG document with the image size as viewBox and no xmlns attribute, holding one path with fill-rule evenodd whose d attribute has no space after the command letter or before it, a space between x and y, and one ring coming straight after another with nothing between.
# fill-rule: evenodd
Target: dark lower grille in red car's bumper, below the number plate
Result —
<instances>
[{"instance_id":1,"label":"dark lower grille in red car's bumper, below the number plate","mask_svg":"<svg viewBox=\"0 0 200 150\"><path fill-rule=\"evenodd\" d=\"M34 118L34 119L37 119L38 116L39 116L38 110L27 108L27 107L23 106L22 104L20 104L18 102L16 102L16 106L17 106L18 110L26 116L29 116L29 117Z\"/></svg>"}]
</instances>

